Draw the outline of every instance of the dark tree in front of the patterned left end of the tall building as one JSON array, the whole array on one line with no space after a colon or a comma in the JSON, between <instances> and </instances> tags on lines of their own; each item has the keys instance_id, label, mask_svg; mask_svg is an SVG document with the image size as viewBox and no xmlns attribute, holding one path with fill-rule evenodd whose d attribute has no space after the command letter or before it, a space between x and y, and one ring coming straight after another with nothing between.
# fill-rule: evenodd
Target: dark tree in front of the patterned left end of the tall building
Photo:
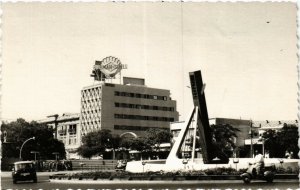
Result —
<instances>
[{"instance_id":1,"label":"dark tree in front of the patterned left end of the tall building","mask_svg":"<svg viewBox=\"0 0 300 190\"><path fill-rule=\"evenodd\" d=\"M113 137L108 129L90 132L82 138L82 145L77 152L82 157L90 159L92 156L103 154L107 148L118 147L118 139Z\"/></svg>"}]
</instances>

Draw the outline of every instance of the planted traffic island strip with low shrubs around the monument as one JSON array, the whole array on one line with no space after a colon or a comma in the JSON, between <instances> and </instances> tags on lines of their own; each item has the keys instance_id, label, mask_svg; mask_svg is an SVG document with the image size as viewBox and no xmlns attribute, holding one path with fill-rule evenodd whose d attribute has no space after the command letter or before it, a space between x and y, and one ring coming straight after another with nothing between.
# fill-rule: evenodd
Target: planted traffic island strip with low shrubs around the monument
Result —
<instances>
[{"instance_id":1,"label":"planted traffic island strip with low shrubs around the monument","mask_svg":"<svg viewBox=\"0 0 300 190\"><path fill-rule=\"evenodd\" d=\"M244 170L217 168L203 171L144 172L130 173L126 171L94 171L54 174L50 181L198 181L198 180L241 180ZM276 173L275 179L298 179L297 173Z\"/></svg>"}]
</instances>

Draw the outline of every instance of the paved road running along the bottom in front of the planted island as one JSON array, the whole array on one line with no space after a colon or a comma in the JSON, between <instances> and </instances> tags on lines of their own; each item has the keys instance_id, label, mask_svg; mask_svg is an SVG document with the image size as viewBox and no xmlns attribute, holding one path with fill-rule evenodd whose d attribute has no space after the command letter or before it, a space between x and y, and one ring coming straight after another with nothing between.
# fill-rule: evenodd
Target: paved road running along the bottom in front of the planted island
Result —
<instances>
[{"instance_id":1,"label":"paved road running along the bottom in front of the planted island","mask_svg":"<svg viewBox=\"0 0 300 190\"><path fill-rule=\"evenodd\" d=\"M263 189L263 190L286 190L299 189L298 180L275 180L273 183L253 181L251 184L244 184L240 180L224 181L82 181L74 183L70 181L50 182L49 175L38 173L38 183L23 182L13 184L9 175L1 175L2 189L59 189L59 190L92 190L92 189Z\"/></svg>"}]
</instances>

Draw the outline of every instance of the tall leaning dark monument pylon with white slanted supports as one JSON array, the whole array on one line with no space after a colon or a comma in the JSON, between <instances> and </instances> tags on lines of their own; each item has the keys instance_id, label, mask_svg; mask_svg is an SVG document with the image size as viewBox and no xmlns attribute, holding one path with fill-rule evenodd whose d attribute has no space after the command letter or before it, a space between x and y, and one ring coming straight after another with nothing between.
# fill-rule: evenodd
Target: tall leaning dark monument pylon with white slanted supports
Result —
<instances>
[{"instance_id":1,"label":"tall leaning dark monument pylon with white slanted supports","mask_svg":"<svg viewBox=\"0 0 300 190\"><path fill-rule=\"evenodd\" d=\"M206 107L206 100L204 94L205 84L203 84L201 71L190 72L191 90L194 102L194 108L189 114L187 120L181 129L175 144L173 145L170 154L166 162L171 162L174 159L178 159L179 151L184 143L185 137L188 133L188 129L191 126L192 120L195 119L196 127L194 129L194 142L192 147L192 160L195 155L195 144L196 140L199 141L203 163L214 164L214 163L228 163L229 158L213 145L213 134L208 121L208 112ZM197 132L199 138L196 138Z\"/></svg>"}]
</instances>

